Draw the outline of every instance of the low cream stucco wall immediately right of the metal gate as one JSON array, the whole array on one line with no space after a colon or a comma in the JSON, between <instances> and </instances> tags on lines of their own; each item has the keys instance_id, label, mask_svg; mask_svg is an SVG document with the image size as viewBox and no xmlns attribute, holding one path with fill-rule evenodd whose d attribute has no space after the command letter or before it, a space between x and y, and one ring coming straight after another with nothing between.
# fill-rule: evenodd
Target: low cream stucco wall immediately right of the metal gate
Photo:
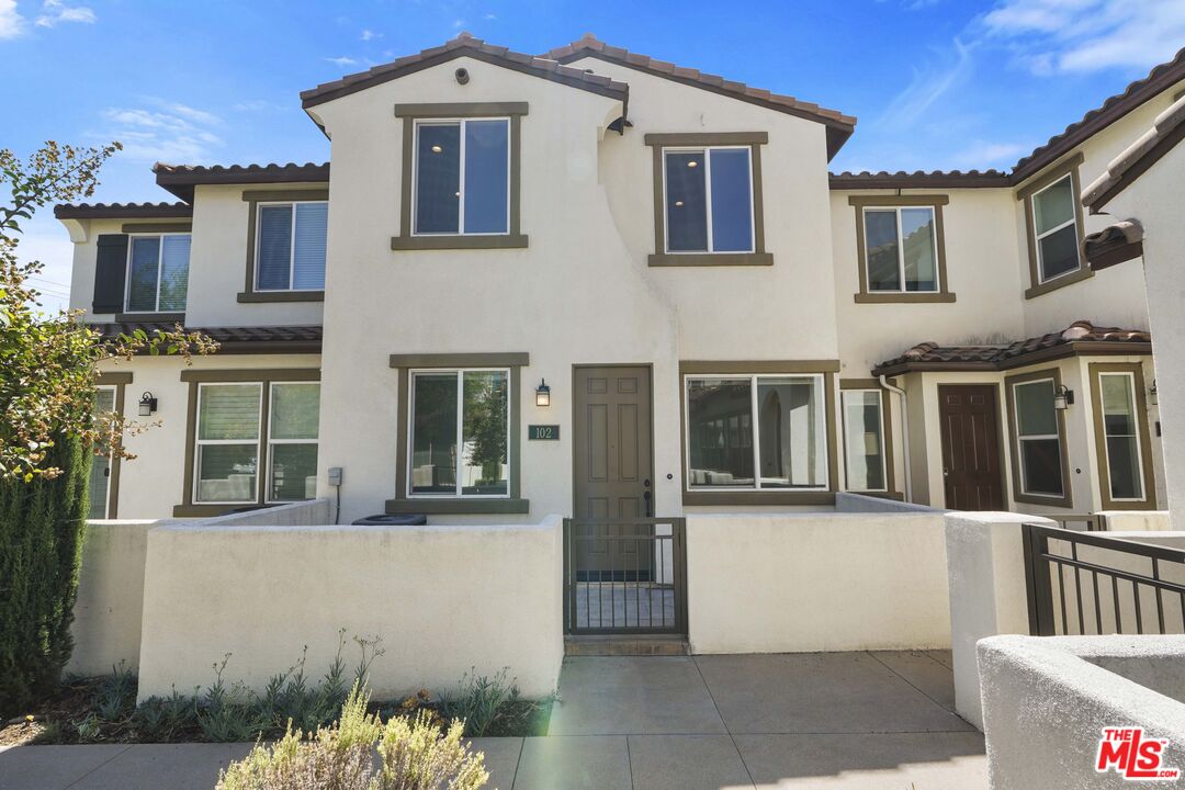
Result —
<instances>
[{"instance_id":1,"label":"low cream stucco wall immediately right of the metal gate","mask_svg":"<svg viewBox=\"0 0 1185 790\"><path fill-rule=\"evenodd\" d=\"M943 516L687 516L694 653L950 646Z\"/></svg>"}]
</instances>

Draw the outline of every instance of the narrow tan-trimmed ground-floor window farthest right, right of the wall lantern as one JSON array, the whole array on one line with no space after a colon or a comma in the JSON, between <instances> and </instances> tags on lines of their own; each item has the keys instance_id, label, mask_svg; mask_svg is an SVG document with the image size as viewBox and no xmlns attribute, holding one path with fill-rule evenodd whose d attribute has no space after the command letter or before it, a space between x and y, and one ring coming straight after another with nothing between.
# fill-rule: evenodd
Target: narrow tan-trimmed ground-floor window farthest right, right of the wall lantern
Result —
<instances>
[{"instance_id":1,"label":"narrow tan-trimmed ground-floor window farthest right, right of the wall lantern","mask_svg":"<svg viewBox=\"0 0 1185 790\"><path fill-rule=\"evenodd\" d=\"M1091 365L1090 394L1103 509L1153 507L1155 483L1142 366Z\"/></svg>"}]
</instances>

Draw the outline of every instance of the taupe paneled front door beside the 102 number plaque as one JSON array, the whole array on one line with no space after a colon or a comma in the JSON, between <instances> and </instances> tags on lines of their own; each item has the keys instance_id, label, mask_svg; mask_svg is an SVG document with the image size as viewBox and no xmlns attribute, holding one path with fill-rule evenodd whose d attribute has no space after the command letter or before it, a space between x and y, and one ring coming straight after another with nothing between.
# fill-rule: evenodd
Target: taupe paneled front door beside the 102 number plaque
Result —
<instances>
[{"instance_id":1,"label":"taupe paneled front door beside the 102 number plaque","mask_svg":"<svg viewBox=\"0 0 1185 790\"><path fill-rule=\"evenodd\" d=\"M574 516L607 522L653 516L651 368L577 367L572 385ZM607 527L606 540L590 544L579 558L581 570L648 574L649 547L613 539L630 532Z\"/></svg>"}]
</instances>

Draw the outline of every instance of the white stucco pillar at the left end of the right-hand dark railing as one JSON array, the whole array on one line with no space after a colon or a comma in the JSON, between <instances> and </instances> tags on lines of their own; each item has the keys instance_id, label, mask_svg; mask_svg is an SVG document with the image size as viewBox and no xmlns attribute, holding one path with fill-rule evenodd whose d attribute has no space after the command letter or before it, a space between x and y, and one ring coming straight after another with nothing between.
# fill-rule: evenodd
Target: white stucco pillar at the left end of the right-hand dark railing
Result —
<instances>
[{"instance_id":1,"label":"white stucco pillar at the left end of the right-hand dark railing","mask_svg":"<svg viewBox=\"0 0 1185 790\"><path fill-rule=\"evenodd\" d=\"M975 643L986 636L1029 634L1021 524L1052 521L1019 513L947 514L947 580L955 711L984 728Z\"/></svg>"}]
</instances>

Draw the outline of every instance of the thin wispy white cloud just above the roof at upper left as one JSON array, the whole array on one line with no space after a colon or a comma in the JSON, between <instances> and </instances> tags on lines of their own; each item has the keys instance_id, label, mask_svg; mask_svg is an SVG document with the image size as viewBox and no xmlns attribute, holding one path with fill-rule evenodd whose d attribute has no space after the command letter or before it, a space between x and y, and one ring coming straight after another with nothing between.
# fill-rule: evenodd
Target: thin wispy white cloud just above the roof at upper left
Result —
<instances>
[{"instance_id":1,"label":"thin wispy white cloud just above the roof at upper left","mask_svg":"<svg viewBox=\"0 0 1185 790\"><path fill-rule=\"evenodd\" d=\"M133 161L200 163L223 146L216 129L222 118L212 113L152 96L141 107L113 107L103 113L108 122L102 137L123 143L121 158Z\"/></svg>"}]
</instances>

